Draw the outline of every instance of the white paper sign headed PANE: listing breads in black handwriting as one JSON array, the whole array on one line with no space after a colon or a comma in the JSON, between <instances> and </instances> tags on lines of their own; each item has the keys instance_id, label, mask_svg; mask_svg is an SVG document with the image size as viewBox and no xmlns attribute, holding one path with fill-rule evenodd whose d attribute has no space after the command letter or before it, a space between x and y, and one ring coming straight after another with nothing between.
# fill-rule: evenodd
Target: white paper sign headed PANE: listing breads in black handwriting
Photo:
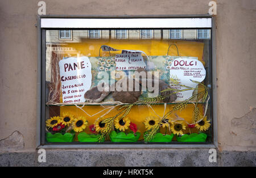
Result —
<instances>
[{"instance_id":1,"label":"white paper sign headed PANE: listing breads in black handwriting","mask_svg":"<svg viewBox=\"0 0 256 178\"><path fill-rule=\"evenodd\" d=\"M92 65L88 57L69 57L59 62L63 103L85 102L92 85Z\"/></svg>"}]
</instances>

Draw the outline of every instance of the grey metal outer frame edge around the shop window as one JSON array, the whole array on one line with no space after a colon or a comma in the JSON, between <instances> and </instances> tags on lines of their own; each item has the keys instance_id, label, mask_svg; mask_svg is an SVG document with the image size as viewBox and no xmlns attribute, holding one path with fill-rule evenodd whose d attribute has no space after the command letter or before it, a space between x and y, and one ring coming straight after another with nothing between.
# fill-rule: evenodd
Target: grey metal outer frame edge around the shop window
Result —
<instances>
[{"instance_id":1,"label":"grey metal outer frame edge around the shop window","mask_svg":"<svg viewBox=\"0 0 256 178\"><path fill-rule=\"evenodd\" d=\"M212 18L211 57L212 57L212 98L213 98L213 142L209 144L42 144L42 18ZM37 73L37 116L36 116L36 149L217 149L217 87L216 87L216 26L214 16L199 15L38 15L38 73Z\"/></svg>"}]
</instances>

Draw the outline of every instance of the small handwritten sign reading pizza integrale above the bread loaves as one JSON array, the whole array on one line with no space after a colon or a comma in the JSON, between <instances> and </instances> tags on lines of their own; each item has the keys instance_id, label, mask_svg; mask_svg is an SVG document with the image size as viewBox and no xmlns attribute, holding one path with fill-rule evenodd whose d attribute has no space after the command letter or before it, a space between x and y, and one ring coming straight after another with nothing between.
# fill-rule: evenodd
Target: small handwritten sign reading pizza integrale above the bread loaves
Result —
<instances>
[{"instance_id":1,"label":"small handwritten sign reading pizza integrale above the bread loaves","mask_svg":"<svg viewBox=\"0 0 256 178\"><path fill-rule=\"evenodd\" d=\"M146 68L141 52L129 52L122 50L122 54L115 55L115 70L137 70L139 67Z\"/></svg>"}]
</instances>

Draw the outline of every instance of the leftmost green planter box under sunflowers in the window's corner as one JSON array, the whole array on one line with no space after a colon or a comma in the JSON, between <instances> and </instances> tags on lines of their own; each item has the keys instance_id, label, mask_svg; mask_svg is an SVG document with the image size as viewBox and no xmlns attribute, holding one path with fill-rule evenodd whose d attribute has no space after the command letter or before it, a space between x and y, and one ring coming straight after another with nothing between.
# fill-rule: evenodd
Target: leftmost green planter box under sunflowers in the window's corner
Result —
<instances>
[{"instance_id":1,"label":"leftmost green planter box under sunflowers in the window's corner","mask_svg":"<svg viewBox=\"0 0 256 178\"><path fill-rule=\"evenodd\" d=\"M46 133L46 141L47 142L73 142L75 134L65 133L64 135L61 133L51 134L49 132Z\"/></svg>"}]
</instances>

